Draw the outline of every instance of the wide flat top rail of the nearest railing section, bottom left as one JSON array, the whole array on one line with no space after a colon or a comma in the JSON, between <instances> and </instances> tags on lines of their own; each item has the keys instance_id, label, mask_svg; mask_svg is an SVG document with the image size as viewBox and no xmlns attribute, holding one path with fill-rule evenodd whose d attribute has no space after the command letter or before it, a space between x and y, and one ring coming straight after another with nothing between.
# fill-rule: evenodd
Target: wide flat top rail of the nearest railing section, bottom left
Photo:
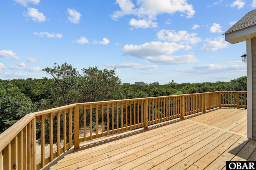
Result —
<instances>
[{"instance_id":1,"label":"wide flat top rail of the nearest railing section, bottom left","mask_svg":"<svg viewBox=\"0 0 256 170\"><path fill-rule=\"evenodd\" d=\"M8 145L8 143L10 143L12 139L14 139L14 137L16 137L20 133L20 131L22 131L22 129L26 127L26 125L28 125L28 123L34 117L35 117L34 113L27 114L24 117L22 117L19 121L14 123L14 125L8 128L6 131L1 133L0 134L0 137L1 137L0 151L3 150Z\"/></svg>"}]
</instances>

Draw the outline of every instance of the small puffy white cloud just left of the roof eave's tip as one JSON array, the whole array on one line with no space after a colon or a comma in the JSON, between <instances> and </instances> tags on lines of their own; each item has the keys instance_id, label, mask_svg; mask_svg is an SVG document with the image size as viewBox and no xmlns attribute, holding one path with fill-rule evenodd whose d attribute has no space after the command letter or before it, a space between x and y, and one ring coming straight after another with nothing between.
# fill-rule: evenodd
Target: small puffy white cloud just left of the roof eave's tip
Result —
<instances>
[{"instance_id":1,"label":"small puffy white cloud just left of the roof eave's tip","mask_svg":"<svg viewBox=\"0 0 256 170\"><path fill-rule=\"evenodd\" d=\"M217 37L214 40L206 39L207 44L201 48L201 51L216 51L228 47L228 42L224 41L223 37Z\"/></svg>"}]
</instances>

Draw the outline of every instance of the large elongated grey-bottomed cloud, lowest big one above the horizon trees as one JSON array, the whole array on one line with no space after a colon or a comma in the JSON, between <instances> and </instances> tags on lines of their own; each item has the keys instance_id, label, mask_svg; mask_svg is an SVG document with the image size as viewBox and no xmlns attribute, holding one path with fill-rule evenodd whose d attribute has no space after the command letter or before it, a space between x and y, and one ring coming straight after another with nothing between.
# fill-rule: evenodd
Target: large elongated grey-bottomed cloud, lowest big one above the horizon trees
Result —
<instances>
[{"instance_id":1,"label":"large elongated grey-bottomed cloud, lowest big one above the horizon trees","mask_svg":"<svg viewBox=\"0 0 256 170\"><path fill-rule=\"evenodd\" d=\"M173 42L153 41L142 45L125 45L122 52L126 56L148 59L148 61L158 64L181 64L199 61L193 55L171 56L175 51L186 48L188 46Z\"/></svg>"}]
</instances>

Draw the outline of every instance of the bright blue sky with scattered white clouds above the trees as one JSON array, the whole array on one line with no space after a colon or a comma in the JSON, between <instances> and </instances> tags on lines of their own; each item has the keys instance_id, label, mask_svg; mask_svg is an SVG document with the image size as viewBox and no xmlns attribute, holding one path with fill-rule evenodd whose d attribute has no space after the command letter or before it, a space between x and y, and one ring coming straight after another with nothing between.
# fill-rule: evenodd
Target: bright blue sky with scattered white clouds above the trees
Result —
<instances>
[{"instance_id":1,"label":"bright blue sky with scattered white clouds above the trees","mask_svg":"<svg viewBox=\"0 0 256 170\"><path fill-rule=\"evenodd\" d=\"M200 3L199 3L200 2ZM246 76L246 42L222 35L256 0L1 0L0 79L49 77L67 62L121 82L216 82Z\"/></svg>"}]
</instances>

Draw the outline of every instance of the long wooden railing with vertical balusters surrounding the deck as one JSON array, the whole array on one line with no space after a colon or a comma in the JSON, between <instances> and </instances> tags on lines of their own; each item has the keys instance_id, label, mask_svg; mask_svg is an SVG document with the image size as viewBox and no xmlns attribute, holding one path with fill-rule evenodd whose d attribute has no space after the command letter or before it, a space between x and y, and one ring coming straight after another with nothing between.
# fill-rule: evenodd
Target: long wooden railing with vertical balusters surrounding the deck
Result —
<instances>
[{"instance_id":1,"label":"long wooden railing with vertical balusters surrounding the deck","mask_svg":"<svg viewBox=\"0 0 256 170\"><path fill-rule=\"evenodd\" d=\"M0 170L40 169L83 141L147 129L216 107L246 108L246 100L246 92L209 92L71 104L30 113L0 135Z\"/></svg>"}]
</instances>

